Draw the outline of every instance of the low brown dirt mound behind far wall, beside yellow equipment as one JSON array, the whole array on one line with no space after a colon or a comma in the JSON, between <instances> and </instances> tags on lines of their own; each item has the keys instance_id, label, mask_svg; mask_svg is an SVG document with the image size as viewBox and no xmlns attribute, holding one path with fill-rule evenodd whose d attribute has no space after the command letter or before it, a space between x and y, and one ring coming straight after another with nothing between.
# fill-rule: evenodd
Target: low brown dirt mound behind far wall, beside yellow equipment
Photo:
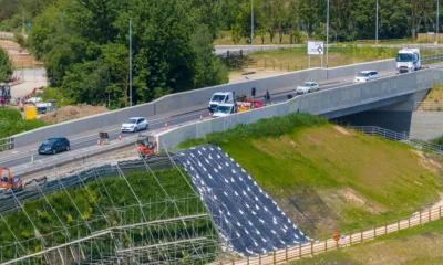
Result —
<instances>
[{"instance_id":1,"label":"low brown dirt mound behind far wall, beside yellow equipment","mask_svg":"<svg viewBox=\"0 0 443 265\"><path fill-rule=\"evenodd\" d=\"M47 123L56 124L106 112L109 112L109 109L103 106L92 106L87 104L78 106L63 106L53 113L42 116L40 119Z\"/></svg>"}]
</instances>

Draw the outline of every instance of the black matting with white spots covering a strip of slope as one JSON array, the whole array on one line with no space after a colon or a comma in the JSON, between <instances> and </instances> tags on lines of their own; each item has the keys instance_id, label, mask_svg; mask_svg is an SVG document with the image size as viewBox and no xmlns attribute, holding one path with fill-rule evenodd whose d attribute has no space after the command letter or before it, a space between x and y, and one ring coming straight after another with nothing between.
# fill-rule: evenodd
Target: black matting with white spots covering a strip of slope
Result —
<instances>
[{"instance_id":1,"label":"black matting with white spots covering a strip of slope","mask_svg":"<svg viewBox=\"0 0 443 265\"><path fill-rule=\"evenodd\" d=\"M310 240L219 147L205 145L177 155L233 251L251 256Z\"/></svg>"}]
</instances>

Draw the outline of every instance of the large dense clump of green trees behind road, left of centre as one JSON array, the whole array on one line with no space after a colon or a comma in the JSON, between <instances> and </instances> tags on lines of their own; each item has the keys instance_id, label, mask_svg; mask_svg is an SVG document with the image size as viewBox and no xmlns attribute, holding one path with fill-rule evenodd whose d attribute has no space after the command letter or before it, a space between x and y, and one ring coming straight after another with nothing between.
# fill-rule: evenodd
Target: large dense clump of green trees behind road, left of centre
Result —
<instances>
[{"instance_id":1,"label":"large dense clump of green trees behind road, left of centre","mask_svg":"<svg viewBox=\"0 0 443 265\"><path fill-rule=\"evenodd\" d=\"M35 18L29 45L63 95L122 107L130 95L130 18L134 103L227 82L202 12L187 0L58 1Z\"/></svg>"}]
</instances>

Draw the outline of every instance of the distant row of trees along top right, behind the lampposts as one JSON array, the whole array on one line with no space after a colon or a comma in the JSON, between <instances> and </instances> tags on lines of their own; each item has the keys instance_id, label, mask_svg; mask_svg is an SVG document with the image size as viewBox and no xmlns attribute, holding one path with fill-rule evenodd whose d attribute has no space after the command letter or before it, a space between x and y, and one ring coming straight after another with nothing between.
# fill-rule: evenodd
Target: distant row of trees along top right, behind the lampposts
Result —
<instances>
[{"instance_id":1,"label":"distant row of trees along top right, behind the lampposts","mask_svg":"<svg viewBox=\"0 0 443 265\"><path fill-rule=\"evenodd\" d=\"M236 42L250 39L251 10L255 38L261 41L267 35L271 43L279 43L282 34L289 34L291 43L298 42L300 31L309 39L326 39L327 0L225 1L223 28L231 31ZM330 40L373 40L377 1L380 39L414 38L418 32L436 30L435 0L330 0ZM440 31L442 23L440 20Z\"/></svg>"}]
</instances>

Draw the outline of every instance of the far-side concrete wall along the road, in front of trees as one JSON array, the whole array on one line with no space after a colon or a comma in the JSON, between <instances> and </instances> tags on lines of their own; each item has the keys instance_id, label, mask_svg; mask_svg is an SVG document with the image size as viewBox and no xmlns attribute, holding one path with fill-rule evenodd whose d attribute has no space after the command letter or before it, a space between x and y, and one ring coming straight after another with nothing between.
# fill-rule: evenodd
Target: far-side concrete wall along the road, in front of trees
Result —
<instances>
[{"instance_id":1,"label":"far-side concrete wall along the road, in front of trees","mask_svg":"<svg viewBox=\"0 0 443 265\"><path fill-rule=\"evenodd\" d=\"M89 130L96 130L107 126L119 126L123 120L132 116L152 117L154 115L176 114L181 109L202 109L208 103L209 97L217 91L235 91L237 95L250 95L250 89L256 87L257 96L265 95L266 91L282 88L296 88L305 81L324 81L342 77L352 77L361 70L377 70L379 72L395 70L394 60L383 60L371 63L353 64L336 68L311 68L271 77L247 81L236 84L213 86L190 92L166 95L152 103L127 107L105 114L99 114L81 119L75 119L58 125L52 125L35 130L13 136L14 147L23 147L41 142L50 137L72 136Z\"/></svg>"}]
</instances>

